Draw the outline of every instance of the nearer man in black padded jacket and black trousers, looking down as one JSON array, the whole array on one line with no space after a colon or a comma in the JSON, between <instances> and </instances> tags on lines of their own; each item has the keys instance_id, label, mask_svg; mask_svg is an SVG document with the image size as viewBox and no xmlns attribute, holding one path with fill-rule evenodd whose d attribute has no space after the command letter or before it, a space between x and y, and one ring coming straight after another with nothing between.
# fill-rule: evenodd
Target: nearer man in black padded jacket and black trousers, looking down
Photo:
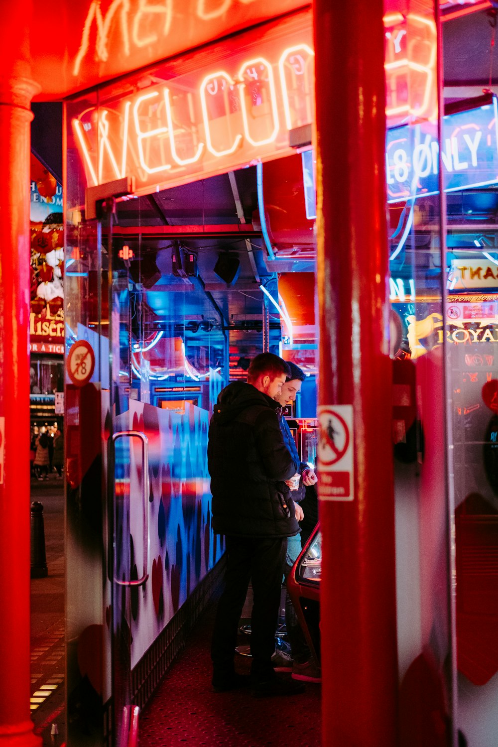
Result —
<instances>
[{"instance_id":1,"label":"nearer man in black padded jacket and black trousers, looking down","mask_svg":"<svg viewBox=\"0 0 498 747\"><path fill-rule=\"evenodd\" d=\"M287 537L299 532L285 480L299 464L284 444L273 397L290 371L272 353L249 366L247 383L228 384L209 426L213 528L225 535L225 589L211 644L213 687L241 686L234 670L237 626L252 579L251 686L255 695L290 695L302 684L277 678L271 663Z\"/></svg>"}]
</instances>

